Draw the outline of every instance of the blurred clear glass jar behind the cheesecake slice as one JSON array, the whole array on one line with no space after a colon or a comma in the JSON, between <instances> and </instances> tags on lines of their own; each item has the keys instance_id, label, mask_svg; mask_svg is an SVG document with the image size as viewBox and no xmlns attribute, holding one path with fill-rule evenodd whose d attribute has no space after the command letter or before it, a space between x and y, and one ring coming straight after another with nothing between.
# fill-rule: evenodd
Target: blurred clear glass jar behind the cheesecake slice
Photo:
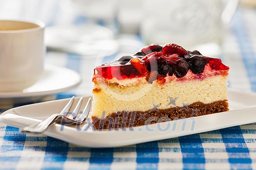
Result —
<instances>
[{"instance_id":1,"label":"blurred clear glass jar behind the cheesecake slice","mask_svg":"<svg viewBox=\"0 0 256 170\"><path fill-rule=\"evenodd\" d=\"M238 0L144 0L141 36L147 44L177 43L217 55Z\"/></svg>"}]
</instances>

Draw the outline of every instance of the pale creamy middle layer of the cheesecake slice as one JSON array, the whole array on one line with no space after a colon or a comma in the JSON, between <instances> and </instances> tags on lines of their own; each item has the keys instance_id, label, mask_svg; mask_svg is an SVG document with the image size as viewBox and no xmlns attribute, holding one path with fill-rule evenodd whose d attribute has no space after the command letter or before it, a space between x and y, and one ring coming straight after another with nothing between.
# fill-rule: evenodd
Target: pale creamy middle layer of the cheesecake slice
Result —
<instances>
[{"instance_id":1,"label":"pale creamy middle layer of the cheesecake slice","mask_svg":"<svg viewBox=\"0 0 256 170\"><path fill-rule=\"evenodd\" d=\"M203 80L176 81L159 84L146 81L138 85L118 86L100 82L93 92L92 116L105 117L118 111L147 111L158 105L158 109L174 107L169 97L176 99L176 106L193 102L211 103L227 100L228 76L217 75Z\"/></svg>"}]
</instances>

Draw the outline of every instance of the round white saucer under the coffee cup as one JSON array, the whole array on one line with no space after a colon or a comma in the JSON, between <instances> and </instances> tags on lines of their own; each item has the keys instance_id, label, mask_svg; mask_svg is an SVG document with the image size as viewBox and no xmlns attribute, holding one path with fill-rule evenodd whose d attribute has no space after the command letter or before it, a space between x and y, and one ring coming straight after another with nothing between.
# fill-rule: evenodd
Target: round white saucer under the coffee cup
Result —
<instances>
[{"instance_id":1,"label":"round white saucer under the coffee cup","mask_svg":"<svg viewBox=\"0 0 256 170\"><path fill-rule=\"evenodd\" d=\"M52 95L69 90L80 82L81 77L76 71L47 64L36 84L19 92L0 92L0 99Z\"/></svg>"}]
</instances>

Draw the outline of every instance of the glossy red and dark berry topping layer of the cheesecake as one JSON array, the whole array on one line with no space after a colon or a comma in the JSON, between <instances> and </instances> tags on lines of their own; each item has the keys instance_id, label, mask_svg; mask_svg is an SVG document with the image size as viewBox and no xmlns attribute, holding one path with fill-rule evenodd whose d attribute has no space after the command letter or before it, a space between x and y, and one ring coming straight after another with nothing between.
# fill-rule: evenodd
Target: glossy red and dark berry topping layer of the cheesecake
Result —
<instances>
[{"instance_id":1,"label":"glossy red and dark berry topping layer of the cheesecake","mask_svg":"<svg viewBox=\"0 0 256 170\"><path fill-rule=\"evenodd\" d=\"M188 73L189 69L192 72L190 74L198 74L201 78L206 65L206 74L213 72L215 75L218 70L226 70L225 73L228 74L229 67L222 64L220 59L203 56L196 50L186 51L177 44L166 44L164 47L153 44L141 49L133 56L122 56L95 68L94 78L123 80L145 76L148 83L155 80L164 83L167 80L166 76L181 78ZM218 73L221 74L221 72Z\"/></svg>"}]
</instances>

